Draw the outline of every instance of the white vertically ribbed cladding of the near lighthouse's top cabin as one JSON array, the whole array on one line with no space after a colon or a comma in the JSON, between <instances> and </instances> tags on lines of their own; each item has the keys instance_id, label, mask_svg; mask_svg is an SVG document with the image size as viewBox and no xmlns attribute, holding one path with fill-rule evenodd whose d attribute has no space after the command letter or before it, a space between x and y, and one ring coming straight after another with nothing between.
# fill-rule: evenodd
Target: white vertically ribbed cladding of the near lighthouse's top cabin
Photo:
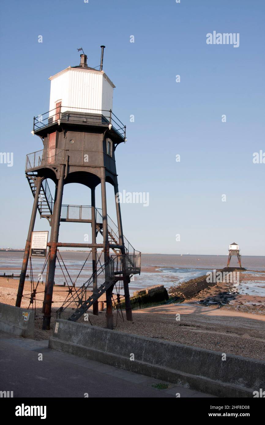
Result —
<instances>
[{"instance_id":1,"label":"white vertically ribbed cladding of the near lighthouse's top cabin","mask_svg":"<svg viewBox=\"0 0 265 425\"><path fill-rule=\"evenodd\" d=\"M50 110L61 100L62 112L76 108L99 113L112 108L112 96L113 88L103 74L69 68L51 80Z\"/></svg>"}]
</instances>

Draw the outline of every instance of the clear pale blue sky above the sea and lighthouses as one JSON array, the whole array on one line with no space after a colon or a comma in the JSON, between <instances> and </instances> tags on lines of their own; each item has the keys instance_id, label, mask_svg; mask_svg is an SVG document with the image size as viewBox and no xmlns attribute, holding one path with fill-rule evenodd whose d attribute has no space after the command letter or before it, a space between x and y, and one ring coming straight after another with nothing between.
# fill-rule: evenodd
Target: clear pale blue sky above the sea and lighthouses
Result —
<instances>
[{"instance_id":1,"label":"clear pale blue sky above the sea and lighthouses","mask_svg":"<svg viewBox=\"0 0 265 425\"><path fill-rule=\"evenodd\" d=\"M48 77L79 65L80 47L89 66L99 65L104 44L113 111L127 124L128 142L116 150L120 190L150 198L149 207L121 205L131 244L226 254L237 242L242 255L265 255L265 164L252 161L265 152L264 12L261 0L3 0L0 151L13 152L14 165L0 164L0 246L25 245L33 203L25 158L42 148L30 132L33 116L48 111ZM213 31L239 33L239 47L207 45ZM107 194L115 219L111 186ZM100 207L99 195L98 187ZM63 203L89 200L86 187L66 186ZM45 229L37 217L35 230ZM63 223L60 241L82 243L86 232L89 225Z\"/></svg>"}]
</instances>

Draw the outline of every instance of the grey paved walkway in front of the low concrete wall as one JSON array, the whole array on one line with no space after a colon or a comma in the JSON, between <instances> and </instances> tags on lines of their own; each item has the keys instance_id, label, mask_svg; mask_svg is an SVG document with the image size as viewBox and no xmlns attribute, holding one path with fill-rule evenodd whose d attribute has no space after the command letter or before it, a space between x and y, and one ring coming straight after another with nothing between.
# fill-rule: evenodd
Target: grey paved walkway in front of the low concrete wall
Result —
<instances>
[{"instance_id":1,"label":"grey paved walkway in front of the low concrete wall","mask_svg":"<svg viewBox=\"0 0 265 425\"><path fill-rule=\"evenodd\" d=\"M39 353L43 360L38 360ZM14 397L211 397L177 385L158 390L150 377L48 348L36 341L0 332L0 391ZM166 383L166 382L163 382Z\"/></svg>"}]
</instances>

